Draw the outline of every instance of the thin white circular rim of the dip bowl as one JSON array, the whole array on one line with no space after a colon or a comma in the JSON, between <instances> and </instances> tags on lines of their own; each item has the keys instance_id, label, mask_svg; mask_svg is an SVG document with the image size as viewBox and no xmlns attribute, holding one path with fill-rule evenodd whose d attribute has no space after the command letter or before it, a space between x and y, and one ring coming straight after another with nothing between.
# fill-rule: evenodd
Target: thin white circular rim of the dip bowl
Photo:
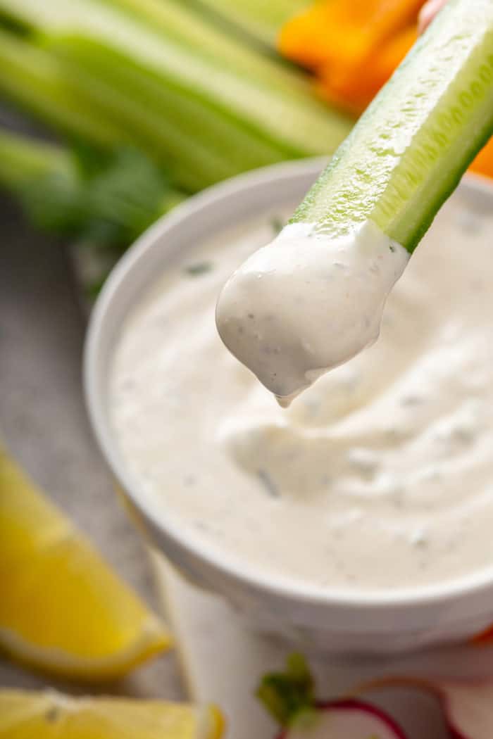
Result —
<instances>
[{"instance_id":1,"label":"thin white circular rim of the dip bowl","mask_svg":"<svg viewBox=\"0 0 493 739\"><path fill-rule=\"evenodd\" d=\"M185 554L188 559L191 557L199 560L206 568L230 582L231 580L239 582L249 590L262 592L265 596L277 596L291 603L320 605L324 608L354 609L356 607L372 612L379 609L387 610L389 607L398 610L408 610L410 607L434 607L449 602L451 599L469 599L472 596L492 590L493 566L444 584L358 591L356 588L354 590L327 588L310 582L291 581L280 575L276 576L276 573L262 573L256 568L251 568L245 562L239 564L237 559L228 559L222 556L223 552L220 548L208 547L204 542L194 539L188 533L183 533L175 522L167 520L165 523L162 512L158 516L155 510L153 511L153 505L149 499L146 500L146 497L140 494L137 480L132 477L123 463L120 464L118 458L118 443L115 434L111 431L111 424L104 409L103 397L100 397L98 391L98 359L105 342L105 321L112 310L112 304L118 296L124 279L128 278L129 273L135 270L143 259L146 259L146 253L152 248L157 239L163 239L169 231L177 228L180 223L193 219L199 211L217 208L220 204L224 205L224 201L228 198L237 197L239 193L256 188L259 185L275 185L286 179L301 179L311 175L315 180L326 163L327 157L284 162L249 171L217 185L212 185L177 205L170 214L158 219L123 254L108 279L106 279L105 285L92 309L86 332L83 384L86 409L92 431L116 480L128 494L137 511L151 523L152 528L172 542L174 547ZM460 186L466 188L473 195L481 194L482 197L486 196L493 202L493 183L480 174L466 174ZM156 507L157 504L154 505L154 509Z\"/></svg>"}]
</instances>

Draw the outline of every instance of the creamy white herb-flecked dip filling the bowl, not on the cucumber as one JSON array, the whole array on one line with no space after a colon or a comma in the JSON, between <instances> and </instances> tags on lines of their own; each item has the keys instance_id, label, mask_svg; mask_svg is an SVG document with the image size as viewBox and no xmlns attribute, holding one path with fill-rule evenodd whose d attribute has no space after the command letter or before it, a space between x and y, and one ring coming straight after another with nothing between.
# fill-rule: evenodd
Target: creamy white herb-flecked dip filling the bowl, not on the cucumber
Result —
<instances>
[{"instance_id":1,"label":"creamy white herb-flecked dip filling the bowl, not on the cucumber","mask_svg":"<svg viewBox=\"0 0 493 739\"><path fill-rule=\"evenodd\" d=\"M115 352L112 423L130 473L225 561L285 582L385 590L490 567L492 234L493 214L453 195L378 341L288 410L214 322L225 279L272 239L269 218L176 257Z\"/></svg>"}]
</instances>

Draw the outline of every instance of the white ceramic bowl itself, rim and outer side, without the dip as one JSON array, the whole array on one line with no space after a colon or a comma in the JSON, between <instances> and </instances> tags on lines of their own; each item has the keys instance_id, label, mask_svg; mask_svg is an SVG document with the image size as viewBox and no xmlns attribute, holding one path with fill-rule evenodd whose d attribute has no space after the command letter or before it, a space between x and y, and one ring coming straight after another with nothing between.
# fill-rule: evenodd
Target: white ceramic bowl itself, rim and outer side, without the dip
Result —
<instances>
[{"instance_id":1,"label":"white ceramic bowl itself, rim and outer side, without the dip","mask_svg":"<svg viewBox=\"0 0 493 739\"><path fill-rule=\"evenodd\" d=\"M315 585L289 588L275 577L237 567L166 520L126 469L112 432L107 379L123 319L170 256L200 238L272 208L301 200L322 168L320 160L273 166L216 185L160 219L121 259L92 313L86 341L86 401L95 435L120 487L155 547L188 578L222 593L264 630L328 650L388 653L459 641L493 623L493 571L463 582L393 590L338 593ZM493 187L480 177L460 185L475 208L493 208Z\"/></svg>"}]
</instances>

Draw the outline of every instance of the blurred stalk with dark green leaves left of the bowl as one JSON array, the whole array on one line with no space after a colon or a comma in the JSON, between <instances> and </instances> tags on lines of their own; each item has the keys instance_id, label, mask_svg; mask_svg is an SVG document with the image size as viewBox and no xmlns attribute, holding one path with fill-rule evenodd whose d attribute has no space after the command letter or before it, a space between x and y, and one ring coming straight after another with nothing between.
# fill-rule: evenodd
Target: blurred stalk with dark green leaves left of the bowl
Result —
<instances>
[{"instance_id":1,"label":"blurred stalk with dark green leaves left of the bowl","mask_svg":"<svg viewBox=\"0 0 493 739\"><path fill-rule=\"evenodd\" d=\"M184 197L137 149L66 149L7 132L0 132L0 185L41 230L115 253Z\"/></svg>"}]
</instances>

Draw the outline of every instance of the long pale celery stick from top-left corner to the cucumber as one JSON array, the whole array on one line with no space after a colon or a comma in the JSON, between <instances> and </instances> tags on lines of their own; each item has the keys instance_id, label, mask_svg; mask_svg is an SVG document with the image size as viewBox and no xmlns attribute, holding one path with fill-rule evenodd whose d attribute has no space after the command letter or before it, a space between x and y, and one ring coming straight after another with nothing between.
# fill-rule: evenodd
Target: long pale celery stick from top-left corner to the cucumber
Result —
<instances>
[{"instance_id":1,"label":"long pale celery stick from top-left corner to the cucumber","mask_svg":"<svg viewBox=\"0 0 493 739\"><path fill-rule=\"evenodd\" d=\"M123 6L135 12L123 12ZM231 44L213 26L200 24L196 14L178 4L146 0L146 13L152 12L152 22L146 22L139 7L128 0L0 1L4 13L39 30L84 35L149 72L173 78L190 95L206 98L290 156L330 153L349 131L350 121L316 101L298 75Z\"/></svg>"}]
</instances>

